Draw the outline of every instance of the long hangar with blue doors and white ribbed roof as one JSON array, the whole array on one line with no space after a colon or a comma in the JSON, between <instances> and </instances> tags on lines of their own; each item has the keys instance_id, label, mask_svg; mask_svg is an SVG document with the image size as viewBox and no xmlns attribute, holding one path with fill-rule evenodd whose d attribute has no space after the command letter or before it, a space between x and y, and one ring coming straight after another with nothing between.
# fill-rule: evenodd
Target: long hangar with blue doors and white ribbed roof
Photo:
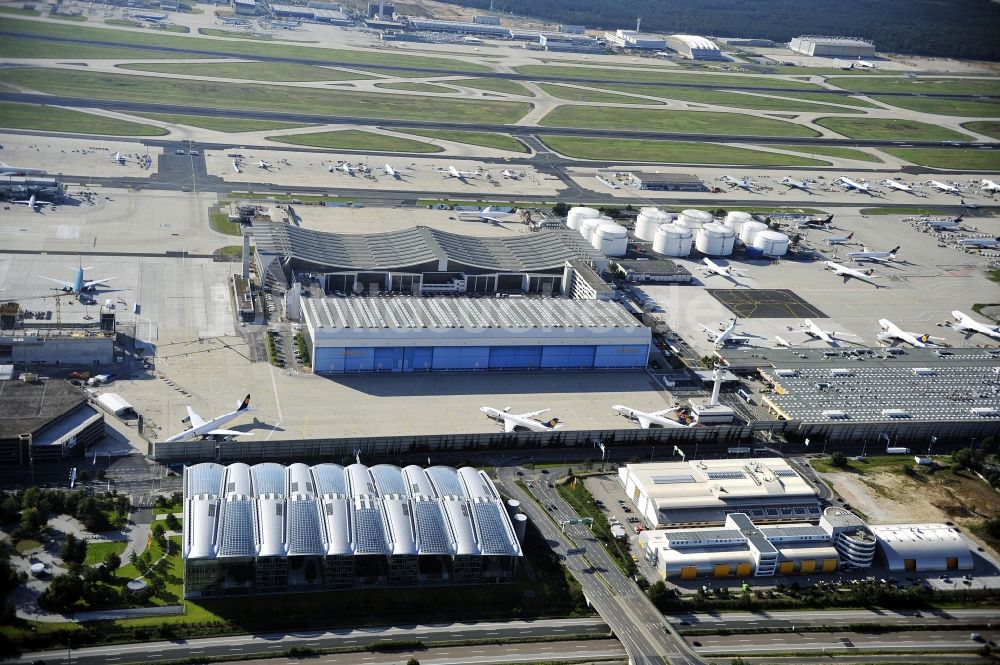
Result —
<instances>
[{"instance_id":1,"label":"long hangar with blue doors and white ribbed roof","mask_svg":"<svg viewBox=\"0 0 1000 665\"><path fill-rule=\"evenodd\" d=\"M651 332L617 303L303 295L313 371L642 369Z\"/></svg>"}]
</instances>

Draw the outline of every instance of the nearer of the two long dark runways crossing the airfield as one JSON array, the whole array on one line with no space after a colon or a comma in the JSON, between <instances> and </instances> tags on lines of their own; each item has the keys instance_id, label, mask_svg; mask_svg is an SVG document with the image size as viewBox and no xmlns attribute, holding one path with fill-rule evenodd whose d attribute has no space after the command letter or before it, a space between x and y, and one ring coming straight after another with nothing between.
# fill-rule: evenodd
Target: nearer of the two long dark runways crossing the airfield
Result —
<instances>
[{"instance_id":1,"label":"nearer of the two long dark runways crossing the airfield","mask_svg":"<svg viewBox=\"0 0 1000 665\"><path fill-rule=\"evenodd\" d=\"M503 125L495 123L463 123L434 120L403 120L397 118L352 117L319 115L313 113L297 113L295 111L258 111L246 108L214 108L205 106L185 106L163 102L138 102L122 99L97 99L87 97L85 91L81 96L46 95L27 92L2 92L0 101L20 102L24 104L47 104L50 106L67 107L98 107L109 111L125 113L178 113L212 118L247 118L253 120L278 120L282 122L300 122L320 125L377 125L384 129L448 129L457 131L505 133L514 136L533 136L547 134L556 136L584 136L606 138L630 138L667 141L703 141L724 143L753 143L758 145L768 143L797 145L826 145L851 147L892 147L906 145L916 148L968 148L974 146L983 150L993 150L1000 144L973 143L956 141L904 141L885 139L834 139L823 137L792 137L792 136L746 136L729 134L694 134L684 132L659 132L640 129L589 129L581 127L542 127L538 125ZM238 100L233 100L237 103Z\"/></svg>"}]
</instances>

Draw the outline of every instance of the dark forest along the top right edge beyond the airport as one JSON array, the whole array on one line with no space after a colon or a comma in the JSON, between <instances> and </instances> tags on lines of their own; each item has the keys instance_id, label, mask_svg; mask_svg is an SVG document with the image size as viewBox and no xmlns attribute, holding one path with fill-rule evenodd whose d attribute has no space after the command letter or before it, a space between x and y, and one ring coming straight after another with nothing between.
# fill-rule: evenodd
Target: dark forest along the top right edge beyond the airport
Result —
<instances>
[{"instance_id":1,"label":"dark forest along the top right edge beyond the airport","mask_svg":"<svg viewBox=\"0 0 1000 665\"><path fill-rule=\"evenodd\" d=\"M443 0L486 9L491 0ZM1000 2L991 0L492 0L497 11L588 28L717 37L864 37L880 52L1000 60Z\"/></svg>"}]
</instances>

